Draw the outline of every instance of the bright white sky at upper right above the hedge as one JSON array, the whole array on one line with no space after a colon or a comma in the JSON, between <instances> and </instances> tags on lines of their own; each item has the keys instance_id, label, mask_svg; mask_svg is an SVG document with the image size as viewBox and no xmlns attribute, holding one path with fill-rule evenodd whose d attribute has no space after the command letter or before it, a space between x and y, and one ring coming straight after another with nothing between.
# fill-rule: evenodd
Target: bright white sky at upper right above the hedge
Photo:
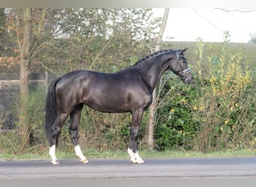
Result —
<instances>
[{"instance_id":1,"label":"bright white sky at upper right above the hedge","mask_svg":"<svg viewBox=\"0 0 256 187\"><path fill-rule=\"evenodd\" d=\"M164 8L153 8L155 16L162 16ZM223 11L214 8L171 8L162 40L222 42L224 31L231 34L230 42L248 43L256 34L256 9Z\"/></svg>"}]
</instances>

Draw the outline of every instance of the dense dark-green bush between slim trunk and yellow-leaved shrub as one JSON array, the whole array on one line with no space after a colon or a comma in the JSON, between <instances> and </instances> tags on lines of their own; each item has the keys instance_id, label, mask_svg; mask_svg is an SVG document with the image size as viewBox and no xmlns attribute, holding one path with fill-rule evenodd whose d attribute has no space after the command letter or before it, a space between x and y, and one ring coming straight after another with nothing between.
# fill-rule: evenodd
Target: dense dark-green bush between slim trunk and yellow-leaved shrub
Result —
<instances>
[{"instance_id":1,"label":"dense dark-green bush between slim trunk and yellow-leaved shrub","mask_svg":"<svg viewBox=\"0 0 256 187\"><path fill-rule=\"evenodd\" d=\"M164 104L156 111L156 149L191 149L189 142L195 134L197 124L191 121L192 111L189 105L191 96L195 95L195 89L178 85L177 80L171 80L168 84L165 87L170 92Z\"/></svg>"}]
</instances>

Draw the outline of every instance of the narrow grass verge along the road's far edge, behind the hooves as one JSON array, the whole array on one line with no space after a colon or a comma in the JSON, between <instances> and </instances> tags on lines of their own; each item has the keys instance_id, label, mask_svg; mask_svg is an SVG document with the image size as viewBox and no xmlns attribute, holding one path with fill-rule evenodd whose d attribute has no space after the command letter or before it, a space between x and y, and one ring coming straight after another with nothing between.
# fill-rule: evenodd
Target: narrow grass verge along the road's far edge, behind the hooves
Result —
<instances>
[{"instance_id":1,"label":"narrow grass verge along the road's far edge, behind the hooves","mask_svg":"<svg viewBox=\"0 0 256 187\"><path fill-rule=\"evenodd\" d=\"M126 151L104 151L99 152L97 150L85 150L85 156L88 159L129 159ZM140 155L142 158L153 159L153 158L205 158L205 157L247 157L256 156L256 150L223 150L216 151L213 153L201 153L196 151L178 151L178 150L167 150L167 151L156 151L156 150L141 150ZM75 151L70 150L69 152L63 150L56 150L56 156L58 159L77 159ZM33 150L30 153L22 154L10 154L1 153L0 160L34 160L34 159L50 159L48 151L46 150Z\"/></svg>"}]
</instances>

